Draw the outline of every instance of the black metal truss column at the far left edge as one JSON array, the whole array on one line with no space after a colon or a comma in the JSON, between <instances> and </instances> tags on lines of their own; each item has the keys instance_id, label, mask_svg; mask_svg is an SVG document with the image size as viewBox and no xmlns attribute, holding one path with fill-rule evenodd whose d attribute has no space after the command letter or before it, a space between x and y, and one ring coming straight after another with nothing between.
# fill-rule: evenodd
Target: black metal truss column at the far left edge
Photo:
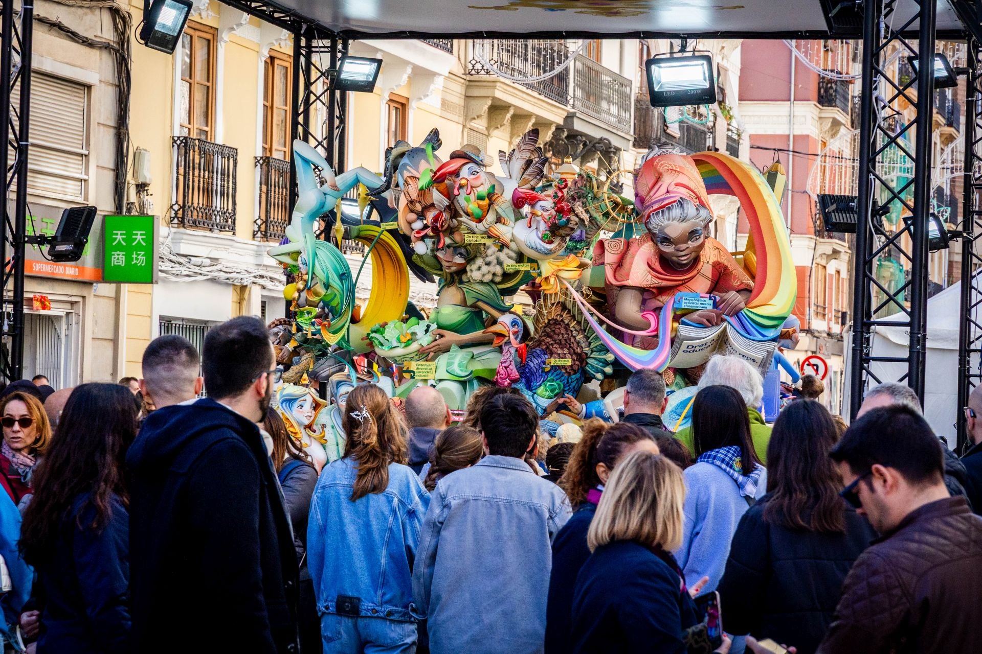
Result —
<instances>
[{"instance_id":1,"label":"black metal truss column at the far left edge","mask_svg":"<svg viewBox=\"0 0 982 654\"><path fill-rule=\"evenodd\" d=\"M0 376L20 379L24 364L24 258L27 239L27 151L33 6L3 0L0 25L0 162L4 203L0 261ZM14 106L14 91L19 101Z\"/></svg>"}]
</instances>

